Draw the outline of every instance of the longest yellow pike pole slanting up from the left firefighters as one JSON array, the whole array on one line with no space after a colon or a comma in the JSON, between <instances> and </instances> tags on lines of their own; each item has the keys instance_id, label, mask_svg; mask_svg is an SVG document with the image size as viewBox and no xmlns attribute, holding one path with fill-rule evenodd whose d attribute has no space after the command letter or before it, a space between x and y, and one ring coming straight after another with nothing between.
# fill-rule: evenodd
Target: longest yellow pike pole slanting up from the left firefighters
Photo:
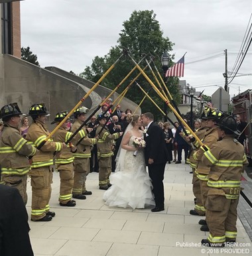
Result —
<instances>
[{"instance_id":1,"label":"longest yellow pike pole slanting up from the left firefighters","mask_svg":"<svg viewBox=\"0 0 252 256\"><path fill-rule=\"evenodd\" d=\"M76 108L78 108L82 102L88 97L90 96L90 94L95 90L95 88L99 85L99 83L107 76L107 74L109 74L109 72L111 72L111 70L115 67L115 64L117 64L117 62L119 61L119 59L124 55L121 54L121 56L119 56L119 58L117 58L117 60L115 61L114 64L112 64L112 66L103 74L103 76L101 76L101 78L99 78L99 80L94 84L94 86L87 92L87 94L82 97L82 99L80 99L80 101L75 105L75 107L68 113L68 115L66 115L66 117L64 117L64 119L54 128L54 130L48 135L48 137L46 137L46 139L44 140L44 143L46 143L46 141L48 141L48 139L50 139L50 137L52 137L52 135L54 135L54 133L56 133L56 131L61 127L61 125L68 119L68 117L70 117L72 115L72 113L74 113L74 110ZM38 149L40 149L44 143L40 143L40 145L38 145Z\"/></svg>"}]
</instances>

